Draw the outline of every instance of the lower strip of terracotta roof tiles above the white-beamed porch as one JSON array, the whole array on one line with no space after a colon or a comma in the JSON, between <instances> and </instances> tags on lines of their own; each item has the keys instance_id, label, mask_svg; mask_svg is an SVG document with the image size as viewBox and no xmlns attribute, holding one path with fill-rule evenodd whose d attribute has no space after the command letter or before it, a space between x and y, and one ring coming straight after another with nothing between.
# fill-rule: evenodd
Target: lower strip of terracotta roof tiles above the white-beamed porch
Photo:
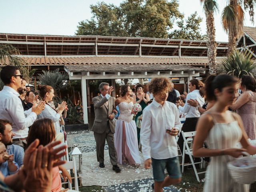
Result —
<instances>
[{"instance_id":1,"label":"lower strip of terracotta roof tiles above the white-beamed porch","mask_svg":"<svg viewBox=\"0 0 256 192\"><path fill-rule=\"evenodd\" d=\"M208 58L159 58L159 57L22 57L25 65L102 65L102 64L160 64L160 65L208 65ZM221 59L217 59L220 63ZM0 66L9 64L0 61Z\"/></svg>"}]
</instances>

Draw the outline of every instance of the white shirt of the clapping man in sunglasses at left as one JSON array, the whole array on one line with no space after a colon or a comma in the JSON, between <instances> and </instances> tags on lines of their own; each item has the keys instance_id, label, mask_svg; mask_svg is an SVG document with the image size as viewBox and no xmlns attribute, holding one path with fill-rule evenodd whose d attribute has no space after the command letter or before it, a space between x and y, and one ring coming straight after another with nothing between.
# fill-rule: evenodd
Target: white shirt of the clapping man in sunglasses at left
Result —
<instances>
[{"instance_id":1,"label":"white shirt of the clapping man in sunglasses at left","mask_svg":"<svg viewBox=\"0 0 256 192\"><path fill-rule=\"evenodd\" d=\"M12 122L14 139L28 136L28 127L36 120L36 113L27 110L24 112L22 102L18 98L20 94L9 86L4 86L0 92L0 119ZM25 117L25 114L28 116Z\"/></svg>"}]
</instances>

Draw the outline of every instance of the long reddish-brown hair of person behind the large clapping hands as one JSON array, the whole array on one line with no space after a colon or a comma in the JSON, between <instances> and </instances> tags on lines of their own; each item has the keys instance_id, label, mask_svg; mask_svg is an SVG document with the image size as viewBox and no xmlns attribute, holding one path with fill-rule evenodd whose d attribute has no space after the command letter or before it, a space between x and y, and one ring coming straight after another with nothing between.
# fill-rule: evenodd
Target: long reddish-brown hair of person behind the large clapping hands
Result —
<instances>
[{"instance_id":1,"label":"long reddish-brown hair of person behind the large clapping hands","mask_svg":"<svg viewBox=\"0 0 256 192\"><path fill-rule=\"evenodd\" d=\"M40 119L34 122L28 132L27 146L29 146L34 140L39 139L39 145L46 146L55 139L55 128L52 120Z\"/></svg>"}]
</instances>

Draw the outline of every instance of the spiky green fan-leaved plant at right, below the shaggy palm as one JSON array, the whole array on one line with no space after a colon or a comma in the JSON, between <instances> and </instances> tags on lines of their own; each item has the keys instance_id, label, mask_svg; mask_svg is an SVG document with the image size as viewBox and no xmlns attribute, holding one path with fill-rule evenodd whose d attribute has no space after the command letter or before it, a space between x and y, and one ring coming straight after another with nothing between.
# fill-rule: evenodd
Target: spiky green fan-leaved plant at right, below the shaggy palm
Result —
<instances>
[{"instance_id":1,"label":"spiky green fan-leaved plant at right, below the shaggy palm","mask_svg":"<svg viewBox=\"0 0 256 192\"><path fill-rule=\"evenodd\" d=\"M234 50L232 54L222 60L222 72L241 78L243 75L254 76L253 71L256 69L252 54L247 50L240 52Z\"/></svg>"}]
</instances>

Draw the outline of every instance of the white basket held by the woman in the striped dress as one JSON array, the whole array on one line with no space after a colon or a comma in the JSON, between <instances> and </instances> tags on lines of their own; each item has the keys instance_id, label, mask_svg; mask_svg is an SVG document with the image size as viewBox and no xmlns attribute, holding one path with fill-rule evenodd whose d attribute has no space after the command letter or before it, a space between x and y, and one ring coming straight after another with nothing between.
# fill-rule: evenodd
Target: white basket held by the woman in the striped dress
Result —
<instances>
[{"instance_id":1,"label":"white basket held by the woman in the striped dress","mask_svg":"<svg viewBox=\"0 0 256 192\"><path fill-rule=\"evenodd\" d=\"M236 164L248 163L246 167L238 167ZM232 178L241 184L251 184L256 181L256 158L240 157L228 162L228 170Z\"/></svg>"}]
</instances>

